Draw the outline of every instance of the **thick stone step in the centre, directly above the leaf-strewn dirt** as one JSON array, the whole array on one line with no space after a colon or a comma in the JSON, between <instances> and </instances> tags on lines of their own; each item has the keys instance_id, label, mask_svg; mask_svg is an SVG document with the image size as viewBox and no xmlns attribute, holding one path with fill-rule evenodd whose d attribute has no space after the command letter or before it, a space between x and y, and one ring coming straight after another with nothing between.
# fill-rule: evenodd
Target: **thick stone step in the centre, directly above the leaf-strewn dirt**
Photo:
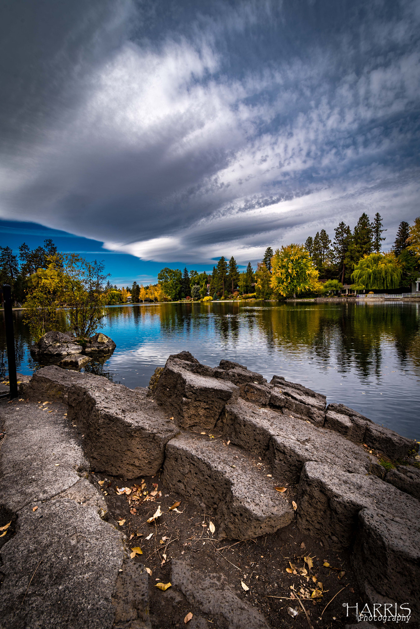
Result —
<instances>
[{"instance_id":1,"label":"thick stone step in the centre, directly above the leaf-strewn dirt","mask_svg":"<svg viewBox=\"0 0 420 629\"><path fill-rule=\"evenodd\" d=\"M293 509L258 461L217 439L190 432L168 442L162 481L215 515L219 539L268 535L293 520Z\"/></svg>"}]
</instances>

